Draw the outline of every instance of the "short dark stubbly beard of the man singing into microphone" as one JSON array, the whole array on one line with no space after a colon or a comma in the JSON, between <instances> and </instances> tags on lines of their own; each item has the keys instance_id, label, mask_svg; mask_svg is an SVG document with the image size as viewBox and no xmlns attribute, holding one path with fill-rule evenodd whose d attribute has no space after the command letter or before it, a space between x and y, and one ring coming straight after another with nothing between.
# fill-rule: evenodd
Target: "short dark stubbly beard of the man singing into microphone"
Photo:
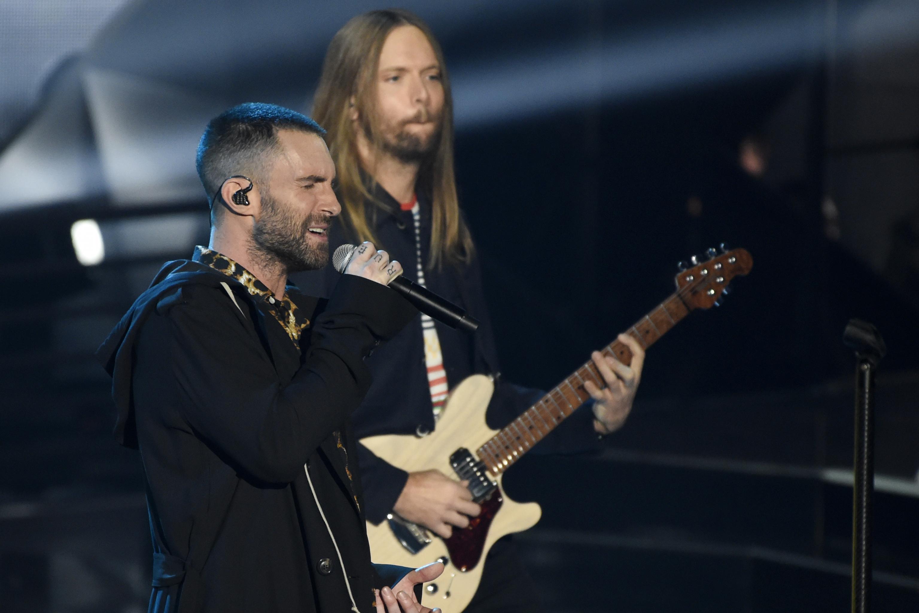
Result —
<instances>
[{"instance_id":1,"label":"short dark stubbly beard of the man singing into microphone","mask_svg":"<svg viewBox=\"0 0 919 613\"><path fill-rule=\"evenodd\" d=\"M329 244L326 241L313 243L309 228L312 225L331 227L333 218L314 213L298 221L290 214L290 209L262 191L262 216L252 229L250 255L269 267L272 264L280 267L288 275L324 267L329 261Z\"/></svg>"}]
</instances>

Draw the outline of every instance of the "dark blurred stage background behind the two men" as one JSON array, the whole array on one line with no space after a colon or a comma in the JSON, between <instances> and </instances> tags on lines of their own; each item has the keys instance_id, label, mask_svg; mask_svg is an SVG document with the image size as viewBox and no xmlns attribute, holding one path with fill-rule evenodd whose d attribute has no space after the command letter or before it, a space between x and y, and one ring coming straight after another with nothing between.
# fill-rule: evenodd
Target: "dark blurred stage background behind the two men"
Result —
<instances>
[{"instance_id":1,"label":"dark blurred stage background behind the two men","mask_svg":"<svg viewBox=\"0 0 919 613\"><path fill-rule=\"evenodd\" d=\"M850 317L890 348L875 606L919 610L919 6L405 6L453 77L507 379L553 386L673 291L678 260L754 256L723 306L652 347L600 456L509 471L509 494L544 508L517 540L549 610L848 607ZM207 120L309 108L335 30L374 7L0 6L3 611L146 607L142 470L110 435L92 352L162 262L207 242Z\"/></svg>"}]
</instances>

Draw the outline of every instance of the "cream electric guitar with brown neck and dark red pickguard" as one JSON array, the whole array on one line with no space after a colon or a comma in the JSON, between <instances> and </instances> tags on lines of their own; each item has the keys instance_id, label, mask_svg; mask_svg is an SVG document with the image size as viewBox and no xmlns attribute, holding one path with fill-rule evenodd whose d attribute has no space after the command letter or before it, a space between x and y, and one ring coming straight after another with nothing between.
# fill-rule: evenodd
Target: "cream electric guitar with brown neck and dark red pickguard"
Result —
<instances>
[{"instance_id":1,"label":"cream electric guitar with brown neck and dark red pickguard","mask_svg":"<svg viewBox=\"0 0 919 613\"><path fill-rule=\"evenodd\" d=\"M707 257L699 263L693 256L691 267L681 263L675 293L630 327L627 334L645 348L652 346L689 312L720 304L731 279L746 275L753 267L747 251L727 251L723 244L720 254L709 249ZM629 348L618 341L600 353L624 364L631 362ZM532 528L542 513L536 503L520 504L507 498L501 488L502 474L590 397L584 390L587 380L604 387L593 361L575 370L504 429L495 431L485 424L494 382L484 375L472 375L450 393L437 429L426 437L382 435L362 439L373 453L403 471L437 469L460 481L469 480L472 499L482 505L479 517L471 517L468 528L453 528L449 539L434 536L394 513L379 526L368 522L373 559L412 568L444 562L444 573L425 585L425 605L449 607L456 613L469 605L482 578L485 554L494 541Z\"/></svg>"}]
</instances>

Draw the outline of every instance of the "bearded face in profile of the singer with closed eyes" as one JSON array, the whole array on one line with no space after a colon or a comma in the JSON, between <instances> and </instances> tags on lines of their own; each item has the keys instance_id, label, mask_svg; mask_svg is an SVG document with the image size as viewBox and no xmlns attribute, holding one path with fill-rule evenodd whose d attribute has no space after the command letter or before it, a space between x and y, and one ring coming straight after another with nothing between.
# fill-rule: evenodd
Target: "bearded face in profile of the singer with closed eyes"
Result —
<instances>
[{"instance_id":1,"label":"bearded face in profile of the singer with closed eyes","mask_svg":"<svg viewBox=\"0 0 919 613\"><path fill-rule=\"evenodd\" d=\"M329 260L328 228L341 206L333 190L335 164L322 137L278 132L280 152L260 191L253 243L288 273L321 268Z\"/></svg>"}]
</instances>

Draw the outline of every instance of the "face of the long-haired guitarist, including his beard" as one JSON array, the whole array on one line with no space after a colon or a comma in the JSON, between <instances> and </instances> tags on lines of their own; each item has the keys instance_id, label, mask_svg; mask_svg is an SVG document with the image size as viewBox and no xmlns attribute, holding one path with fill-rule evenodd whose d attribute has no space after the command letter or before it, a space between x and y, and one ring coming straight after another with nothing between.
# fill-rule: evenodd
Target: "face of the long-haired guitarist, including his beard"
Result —
<instances>
[{"instance_id":1,"label":"face of the long-haired guitarist, including his beard","mask_svg":"<svg viewBox=\"0 0 919 613\"><path fill-rule=\"evenodd\" d=\"M444 85L425 33L414 26L390 32L380 51L377 117L386 153L421 161L440 137Z\"/></svg>"}]
</instances>

